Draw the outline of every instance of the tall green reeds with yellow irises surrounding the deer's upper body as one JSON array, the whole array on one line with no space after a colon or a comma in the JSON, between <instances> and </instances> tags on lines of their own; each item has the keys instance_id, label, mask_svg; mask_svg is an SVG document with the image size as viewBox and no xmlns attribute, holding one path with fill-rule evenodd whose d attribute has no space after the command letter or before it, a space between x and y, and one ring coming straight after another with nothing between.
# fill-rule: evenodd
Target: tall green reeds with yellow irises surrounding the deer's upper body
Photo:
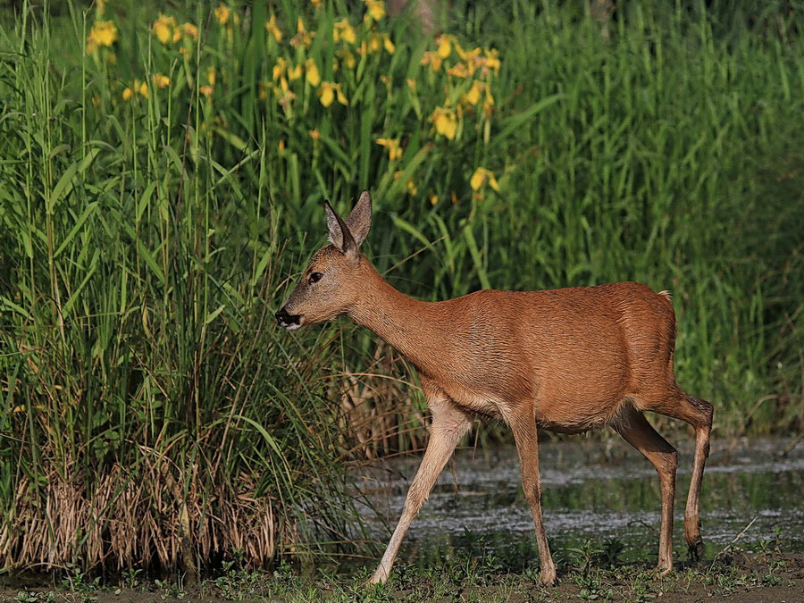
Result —
<instances>
[{"instance_id":1,"label":"tall green reeds with yellow irises surrounding the deer's upper body","mask_svg":"<svg viewBox=\"0 0 804 603\"><path fill-rule=\"evenodd\" d=\"M361 188L399 289L672 289L717 429L801 428L800 13L457 2L431 40L300 6L0 13L0 565L354 540L343 462L420 446L423 400L373 337L272 310Z\"/></svg>"}]
</instances>

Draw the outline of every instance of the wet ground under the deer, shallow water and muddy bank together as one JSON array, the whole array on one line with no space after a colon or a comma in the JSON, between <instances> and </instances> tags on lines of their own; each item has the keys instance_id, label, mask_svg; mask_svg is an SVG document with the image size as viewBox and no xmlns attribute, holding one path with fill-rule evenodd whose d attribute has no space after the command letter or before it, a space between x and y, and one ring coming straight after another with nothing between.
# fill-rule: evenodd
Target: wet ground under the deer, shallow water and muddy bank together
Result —
<instances>
[{"instance_id":1,"label":"wet ground under the deer, shallow water and muddy bank together","mask_svg":"<svg viewBox=\"0 0 804 603\"><path fill-rule=\"evenodd\" d=\"M681 438L674 438L677 442ZM689 438L687 438L689 440ZM683 507L691 450L681 445L676 571L656 564L658 480L620 440L540 445L543 506L558 567L538 583L538 552L513 448L458 450L415 519L389 584L366 590L373 560L274 570L231 568L200 583L124 574L93 580L26 574L0 580L0 601L804 601L804 442L714 440L701 496L703 560L687 560ZM360 471L368 536L384 542L421 453ZM357 550L357 549L356 549Z\"/></svg>"}]
</instances>

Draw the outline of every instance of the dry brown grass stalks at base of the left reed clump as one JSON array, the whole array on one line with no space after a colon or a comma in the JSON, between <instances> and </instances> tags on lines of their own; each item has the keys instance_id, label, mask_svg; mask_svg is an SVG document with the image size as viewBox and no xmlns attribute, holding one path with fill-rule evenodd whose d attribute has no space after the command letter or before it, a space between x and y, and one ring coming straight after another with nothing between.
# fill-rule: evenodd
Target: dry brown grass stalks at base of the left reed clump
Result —
<instances>
[{"instance_id":1,"label":"dry brown grass stalks at base of the left reed clump","mask_svg":"<svg viewBox=\"0 0 804 603\"><path fill-rule=\"evenodd\" d=\"M68 472L67 481L51 470L44 485L21 479L13 517L0 528L4 568L191 569L196 558L231 550L249 565L264 565L277 542L296 540L294 526L274 513L276 501L255 496L254 477L209 492L202 467L178 472L171 459L140 449L136 475L113 465L92 479L80 470Z\"/></svg>"}]
</instances>

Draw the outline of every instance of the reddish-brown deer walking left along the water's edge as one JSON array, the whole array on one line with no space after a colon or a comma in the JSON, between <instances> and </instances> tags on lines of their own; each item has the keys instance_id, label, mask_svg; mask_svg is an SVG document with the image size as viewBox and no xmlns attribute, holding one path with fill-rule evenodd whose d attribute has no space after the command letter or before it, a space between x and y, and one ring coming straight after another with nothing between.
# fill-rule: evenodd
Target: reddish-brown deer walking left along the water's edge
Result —
<instances>
[{"instance_id":1,"label":"reddish-brown deer walking left along the water's edge","mask_svg":"<svg viewBox=\"0 0 804 603\"><path fill-rule=\"evenodd\" d=\"M699 493L709 454L713 406L675 382L675 313L668 291L636 282L536 291L483 289L446 301L408 297L361 253L372 225L364 191L346 222L324 203L329 244L311 257L276 312L292 331L347 315L405 356L418 373L431 415L430 437L380 565L385 582L399 546L477 417L513 432L540 558L540 582L556 582L541 513L537 429L582 433L611 427L658 473L661 527L656 572L673 570L673 504L678 454L653 429L650 411L690 423L695 453L684 535L690 556L703 552Z\"/></svg>"}]
</instances>

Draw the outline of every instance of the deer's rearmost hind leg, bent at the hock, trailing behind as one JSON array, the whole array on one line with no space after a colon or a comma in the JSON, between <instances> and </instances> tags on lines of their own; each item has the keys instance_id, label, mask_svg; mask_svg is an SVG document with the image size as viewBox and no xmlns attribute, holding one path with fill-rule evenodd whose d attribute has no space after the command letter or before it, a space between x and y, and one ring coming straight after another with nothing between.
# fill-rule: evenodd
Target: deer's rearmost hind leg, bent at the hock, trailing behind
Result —
<instances>
[{"instance_id":1,"label":"deer's rearmost hind leg, bent at the hock, trailing behind","mask_svg":"<svg viewBox=\"0 0 804 603\"><path fill-rule=\"evenodd\" d=\"M703 540L700 537L700 482L709 456L709 433L712 431L714 407L706 400L700 400L675 388L666 398L653 402L644 409L681 419L695 429L695 457L692 461L690 493L687 495L687 507L684 510L684 536L690 549L690 557L697 560L703 554Z\"/></svg>"}]
</instances>

